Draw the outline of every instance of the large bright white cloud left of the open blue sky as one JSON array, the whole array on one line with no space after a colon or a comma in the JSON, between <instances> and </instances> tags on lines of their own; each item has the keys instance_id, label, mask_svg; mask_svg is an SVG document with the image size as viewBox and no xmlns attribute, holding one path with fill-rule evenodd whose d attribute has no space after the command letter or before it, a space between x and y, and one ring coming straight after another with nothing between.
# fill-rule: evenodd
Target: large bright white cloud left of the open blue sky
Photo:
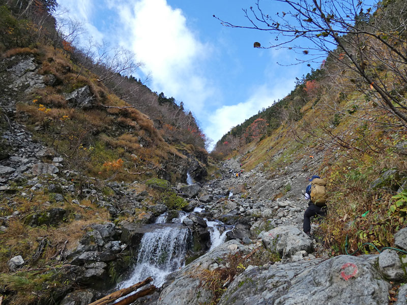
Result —
<instances>
[{"instance_id":1,"label":"large bright white cloud left of the open blue sky","mask_svg":"<svg viewBox=\"0 0 407 305\"><path fill-rule=\"evenodd\" d=\"M211 47L187 27L183 12L166 0L141 0L118 10L126 32L122 44L137 54L145 74L152 73L152 87L202 111L214 92L200 68Z\"/></svg>"}]
</instances>

